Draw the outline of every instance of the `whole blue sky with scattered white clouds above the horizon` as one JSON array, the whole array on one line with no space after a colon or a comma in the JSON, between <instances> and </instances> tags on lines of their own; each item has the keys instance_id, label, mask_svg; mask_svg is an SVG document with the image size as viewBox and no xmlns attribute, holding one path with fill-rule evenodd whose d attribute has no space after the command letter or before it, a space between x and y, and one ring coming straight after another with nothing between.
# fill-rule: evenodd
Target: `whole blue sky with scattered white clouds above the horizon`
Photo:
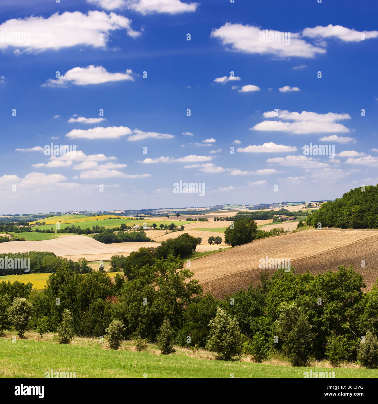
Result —
<instances>
[{"instance_id":1,"label":"whole blue sky with scattered white clouds above the horizon","mask_svg":"<svg viewBox=\"0 0 378 404\"><path fill-rule=\"evenodd\" d=\"M309 201L375 185L377 11L2 0L1 213ZM266 29L290 41L262 42ZM46 156L51 142L75 156ZM305 156L310 143L334 158ZM179 181L205 195L174 193Z\"/></svg>"}]
</instances>

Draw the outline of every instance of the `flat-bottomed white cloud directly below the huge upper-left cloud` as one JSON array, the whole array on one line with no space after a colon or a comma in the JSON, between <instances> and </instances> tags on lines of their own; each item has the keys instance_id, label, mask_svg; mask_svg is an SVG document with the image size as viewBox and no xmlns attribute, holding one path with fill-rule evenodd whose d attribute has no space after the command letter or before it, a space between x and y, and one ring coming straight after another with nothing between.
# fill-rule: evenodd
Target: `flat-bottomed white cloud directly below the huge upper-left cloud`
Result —
<instances>
[{"instance_id":1,"label":"flat-bottomed white cloud directly below the huge upper-left cloud","mask_svg":"<svg viewBox=\"0 0 378 404\"><path fill-rule=\"evenodd\" d=\"M87 86L88 84L103 84L122 80L134 81L133 71L127 69L126 73L110 73L105 67L90 65L87 67L74 67L56 80L47 80L42 84L42 87L65 87L68 84Z\"/></svg>"}]
</instances>

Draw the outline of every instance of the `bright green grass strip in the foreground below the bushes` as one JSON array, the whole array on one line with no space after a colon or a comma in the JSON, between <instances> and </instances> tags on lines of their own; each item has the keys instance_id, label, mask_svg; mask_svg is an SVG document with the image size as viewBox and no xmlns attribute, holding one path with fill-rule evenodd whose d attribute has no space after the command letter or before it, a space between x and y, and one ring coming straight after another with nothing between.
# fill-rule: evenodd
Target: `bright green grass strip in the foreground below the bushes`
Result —
<instances>
[{"instance_id":1,"label":"bright green grass strip in the foreground below the bushes","mask_svg":"<svg viewBox=\"0 0 378 404\"><path fill-rule=\"evenodd\" d=\"M106 340L78 338L69 345L52 341L46 334L42 340L35 332L26 332L25 339L12 343L14 332L0 338L0 377L44 377L45 372L76 372L76 378L95 377L295 377L303 378L310 368L317 372L335 372L339 377L378 377L378 370L363 368L293 367L258 364L246 361L214 360L213 353L200 349L176 348L171 355L161 355L156 345L137 352L133 341L124 341L120 349L108 349Z\"/></svg>"}]
</instances>

